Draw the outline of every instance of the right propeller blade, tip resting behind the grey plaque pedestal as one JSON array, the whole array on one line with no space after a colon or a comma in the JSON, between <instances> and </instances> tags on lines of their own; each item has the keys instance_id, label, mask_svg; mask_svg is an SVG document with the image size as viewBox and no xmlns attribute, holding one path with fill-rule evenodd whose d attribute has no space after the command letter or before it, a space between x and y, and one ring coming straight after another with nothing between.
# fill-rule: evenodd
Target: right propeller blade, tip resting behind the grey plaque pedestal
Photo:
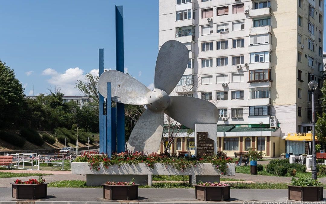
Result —
<instances>
[{"instance_id":1,"label":"right propeller blade, tip resting behind the grey plaque pedestal","mask_svg":"<svg viewBox=\"0 0 326 204\"><path fill-rule=\"evenodd\" d=\"M208 101L189 96L170 96L165 113L182 125L195 130L196 123L217 123L218 109Z\"/></svg>"}]
</instances>

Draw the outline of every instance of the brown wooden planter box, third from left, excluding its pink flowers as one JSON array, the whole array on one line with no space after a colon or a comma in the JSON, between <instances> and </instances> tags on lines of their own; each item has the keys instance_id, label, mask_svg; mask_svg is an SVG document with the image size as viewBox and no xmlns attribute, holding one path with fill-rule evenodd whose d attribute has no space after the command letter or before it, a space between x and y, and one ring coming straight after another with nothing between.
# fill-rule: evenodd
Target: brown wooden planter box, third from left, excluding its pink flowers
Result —
<instances>
[{"instance_id":1,"label":"brown wooden planter box, third from left, excluding its pink flowers","mask_svg":"<svg viewBox=\"0 0 326 204\"><path fill-rule=\"evenodd\" d=\"M224 201L230 199L230 187L195 185L196 199L204 201Z\"/></svg>"}]
</instances>

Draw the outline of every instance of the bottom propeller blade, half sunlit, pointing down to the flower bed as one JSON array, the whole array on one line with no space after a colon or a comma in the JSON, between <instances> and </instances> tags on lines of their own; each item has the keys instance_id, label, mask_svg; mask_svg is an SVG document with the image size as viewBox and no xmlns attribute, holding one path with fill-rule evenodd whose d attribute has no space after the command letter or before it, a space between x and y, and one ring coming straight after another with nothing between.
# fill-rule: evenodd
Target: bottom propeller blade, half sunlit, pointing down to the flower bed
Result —
<instances>
[{"instance_id":1,"label":"bottom propeller blade, half sunlit, pointing down to the flower bed","mask_svg":"<svg viewBox=\"0 0 326 204\"><path fill-rule=\"evenodd\" d=\"M157 152L163 133L163 111L147 109L139 118L128 140L128 151Z\"/></svg>"}]
</instances>

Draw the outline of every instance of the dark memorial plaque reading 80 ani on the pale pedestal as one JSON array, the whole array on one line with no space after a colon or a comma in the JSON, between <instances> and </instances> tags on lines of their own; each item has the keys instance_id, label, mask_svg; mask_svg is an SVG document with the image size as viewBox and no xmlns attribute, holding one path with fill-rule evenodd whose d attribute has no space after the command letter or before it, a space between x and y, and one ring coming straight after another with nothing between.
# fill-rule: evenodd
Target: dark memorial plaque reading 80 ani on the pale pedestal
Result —
<instances>
[{"instance_id":1,"label":"dark memorial plaque reading 80 ani on the pale pedestal","mask_svg":"<svg viewBox=\"0 0 326 204\"><path fill-rule=\"evenodd\" d=\"M208 133L197 133L197 157L205 155L214 155L214 140L208 138Z\"/></svg>"}]
</instances>

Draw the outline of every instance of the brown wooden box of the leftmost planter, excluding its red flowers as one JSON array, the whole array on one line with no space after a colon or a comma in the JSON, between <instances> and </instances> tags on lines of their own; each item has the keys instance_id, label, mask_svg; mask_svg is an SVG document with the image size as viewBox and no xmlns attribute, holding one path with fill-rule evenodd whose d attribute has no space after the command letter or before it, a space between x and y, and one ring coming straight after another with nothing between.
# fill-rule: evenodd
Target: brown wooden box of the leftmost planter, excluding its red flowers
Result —
<instances>
[{"instance_id":1,"label":"brown wooden box of the leftmost planter, excluding its red flowers","mask_svg":"<svg viewBox=\"0 0 326 204\"><path fill-rule=\"evenodd\" d=\"M38 199L48 196L48 183L11 184L11 195L16 199Z\"/></svg>"}]
</instances>

